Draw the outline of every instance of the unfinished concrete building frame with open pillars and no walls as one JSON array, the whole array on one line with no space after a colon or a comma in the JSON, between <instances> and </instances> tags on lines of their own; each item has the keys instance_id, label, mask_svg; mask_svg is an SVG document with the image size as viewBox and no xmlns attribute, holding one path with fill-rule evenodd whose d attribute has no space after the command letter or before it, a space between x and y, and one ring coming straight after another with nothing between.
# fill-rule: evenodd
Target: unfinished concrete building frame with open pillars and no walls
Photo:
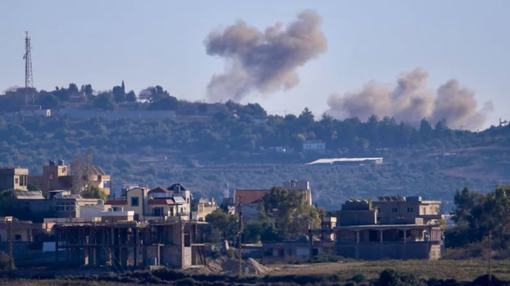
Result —
<instances>
[{"instance_id":1,"label":"unfinished concrete building frame with open pillars and no walls","mask_svg":"<svg viewBox=\"0 0 510 286\"><path fill-rule=\"evenodd\" d=\"M197 221L58 223L56 260L72 266L203 265L203 233Z\"/></svg>"}]
</instances>

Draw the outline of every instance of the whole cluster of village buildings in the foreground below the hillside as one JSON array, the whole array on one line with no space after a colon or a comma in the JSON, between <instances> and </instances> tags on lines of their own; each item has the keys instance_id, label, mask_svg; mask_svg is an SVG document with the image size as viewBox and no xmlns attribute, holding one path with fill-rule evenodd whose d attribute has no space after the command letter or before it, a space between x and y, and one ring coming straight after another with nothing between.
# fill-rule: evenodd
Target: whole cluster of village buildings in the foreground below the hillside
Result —
<instances>
[{"instance_id":1,"label":"whole cluster of village buildings in the foreground below the hillside","mask_svg":"<svg viewBox=\"0 0 510 286\"><path fill-rule=\"evenodd\" d=\"M37 190L29 190L29 185ZM90 197L85 191L91 185L107 198ZM225 188L221 203L214 197L194 197L180 183L151 188L126 184L118 195L112 192L111 176L90 162L66 165L64 160L50 160L42 166L41 176L30 176L26 168L2 166L0 190L12 190L10 202L16 213L0 218L0 251L18 267L63 264L121 271L205 266L216 246L205 237L207 216L222 208L240 225L257 219L271 190L253 187ZM318 207L312 202L310 182L289 180L279 187ZM321 255L439 260L445 247L444 221L441 202L420 196L349 199L336 216L321 215L320 227L309 226L308 235L243 245L240 227L239 241L221 244L223 250L236 247L238 258L264 265L307 263Z\"/></svg>"}]
</instances>

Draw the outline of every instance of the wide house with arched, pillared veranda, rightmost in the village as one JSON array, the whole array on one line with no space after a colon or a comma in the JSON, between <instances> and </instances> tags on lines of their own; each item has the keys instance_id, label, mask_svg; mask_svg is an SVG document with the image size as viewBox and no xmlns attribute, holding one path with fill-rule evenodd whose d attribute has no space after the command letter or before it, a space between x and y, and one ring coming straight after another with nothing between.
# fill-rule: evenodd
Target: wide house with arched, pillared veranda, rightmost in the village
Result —
<instances>
[{"instance_id":1,"label":"wide house with arched, pillared veranda, rightmost in the village","mask_svg":"<svg viewBox=\"0 0 510 286\"><path fill-rule=\"evenodd\" d=\"M440 206L421 202L400 196L384 197L373 206L368 201L345 202L335 227L337 254L365 260L440 259L444 248ZM417 206L436 213L427 216L410 209Z\"/></svg>"}]
</instances>

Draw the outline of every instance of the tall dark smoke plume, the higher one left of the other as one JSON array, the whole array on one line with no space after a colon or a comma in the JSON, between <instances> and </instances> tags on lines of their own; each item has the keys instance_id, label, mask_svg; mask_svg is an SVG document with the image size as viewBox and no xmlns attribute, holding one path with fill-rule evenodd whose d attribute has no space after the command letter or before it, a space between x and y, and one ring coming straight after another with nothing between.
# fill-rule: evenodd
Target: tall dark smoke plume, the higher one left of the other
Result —
<instances>
[{"instance_id":1,"label":"tall dark smoke plume, the higher one left of the other","mask_svg":"<svg viewBox=\"0 0 510 286\"><path fill-rule=\"evenodd\" d=\"M240 20L211 32L205 40L207 54L225 58L227 66L211 78L208 96L239 101L252 90L293 88L299 82L296 69L327 50L320 25L320 16L305 10L286 28L276 23L262 32Z\"/></svg>"}]
</instances>

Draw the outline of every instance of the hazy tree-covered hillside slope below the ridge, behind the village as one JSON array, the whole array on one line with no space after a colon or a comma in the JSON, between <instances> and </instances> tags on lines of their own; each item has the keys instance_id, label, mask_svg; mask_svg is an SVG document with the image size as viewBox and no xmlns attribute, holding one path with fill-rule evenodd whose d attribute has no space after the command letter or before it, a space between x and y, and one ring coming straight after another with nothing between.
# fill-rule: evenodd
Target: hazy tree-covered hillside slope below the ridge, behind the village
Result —
<instances>
[{"instance_id":1,"label":"hazy tree-covered hillside slope below the ridge, behind the village","mask_svg":"<svg viewBox=\"0 0 510 286\"><path fill-rule=\"evenodd\" d=\"M124 183L156 186L181 182L196 195L220 199L232 188L269 188L284 180L311 181L314 202L338 209L348 197L418 194L443 199L455 189L483 191L509 183L510 127L482 132L448 129L423 120L419 127L372 117L343 121L323 116L267 116L258 104L224 104L194 120L71 121L65 117L0 121L0 164L37 175L48 159L72 161L87 152ZM326 142L326 154L301 151L304 140ZM282 146L286 154L268 148ZM384 157L382 165L309 166L323 157Z\"/></svg>"}]
</instances>

